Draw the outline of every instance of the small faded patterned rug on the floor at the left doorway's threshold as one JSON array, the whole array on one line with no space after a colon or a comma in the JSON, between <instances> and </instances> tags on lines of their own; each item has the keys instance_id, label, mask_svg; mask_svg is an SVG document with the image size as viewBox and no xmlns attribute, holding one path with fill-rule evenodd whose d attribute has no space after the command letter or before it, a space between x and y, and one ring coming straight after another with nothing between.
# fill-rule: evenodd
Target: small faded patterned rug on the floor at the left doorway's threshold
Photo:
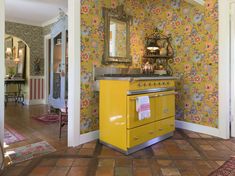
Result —
<instances>
[{"instance_id":1,"label":"small faded patterned rug on the floor at the left doorway's threshold","mask_svg":"<svg viewBox=\"0 0 235 176\"><path fill-rule=\"evenodd\" d=\"M48 144L46 141L41 141L33 144L29 144L23 147L9 149L6 151L6 156L9 157L12 164L33 159L51 152L56 149Z\"/></svg>"}]
</instances>

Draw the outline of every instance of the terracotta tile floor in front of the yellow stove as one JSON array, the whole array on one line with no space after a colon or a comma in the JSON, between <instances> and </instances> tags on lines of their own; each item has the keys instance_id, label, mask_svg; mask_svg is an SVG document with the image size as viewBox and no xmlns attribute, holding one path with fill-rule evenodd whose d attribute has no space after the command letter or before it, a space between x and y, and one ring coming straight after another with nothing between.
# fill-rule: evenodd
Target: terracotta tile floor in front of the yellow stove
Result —
<instances>
[{"instance_id":1,"label":"terracotta tile floor in front of the yellow stove","mask_svg":"<svg viewBox=\"0 0 235 176\"><path fill-rule=\"evenodd\" d=\"M7 167L3 176L207 176L235 155L235 139L185 130L125 156L93 141Z\"/></svg>"}]
</instances>

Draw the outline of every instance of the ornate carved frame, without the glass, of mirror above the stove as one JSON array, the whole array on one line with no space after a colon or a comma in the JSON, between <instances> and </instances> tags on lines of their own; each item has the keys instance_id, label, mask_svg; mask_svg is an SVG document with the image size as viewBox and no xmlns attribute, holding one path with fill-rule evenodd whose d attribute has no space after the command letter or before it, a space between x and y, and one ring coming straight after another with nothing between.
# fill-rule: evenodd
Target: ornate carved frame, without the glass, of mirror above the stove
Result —
<instances>
[{"instance_id":1,"label":"ornate carved frame, without the glass, of mirror above the stove","mask_svg":"<svg viewBox=\"0 0 235 176\"><path fill-rule=\"evenodd\" d=\"M103 64L110 63L132 63L132 57L130 55L130 25L132 22L132 16L127 15L124 12L124 6L117 6L115 9L108 9L103 7L104 17L104 55ZM110 41L110 19L116 19L126 23L126 57L110 56L109 41Z\"/></svg>"}]
</instances>

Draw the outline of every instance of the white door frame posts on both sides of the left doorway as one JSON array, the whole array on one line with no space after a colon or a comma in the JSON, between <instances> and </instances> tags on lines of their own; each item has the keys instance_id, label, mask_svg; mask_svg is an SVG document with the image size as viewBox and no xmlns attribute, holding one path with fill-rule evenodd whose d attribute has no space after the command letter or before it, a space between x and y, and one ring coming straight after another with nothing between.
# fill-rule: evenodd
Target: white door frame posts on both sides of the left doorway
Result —
<instances>
[{"instance_id":1,"label":"white door frame posts on both sides of the left doorway","mask_svg":"<svg viewBox=\"0 0 235 176\"><path fill-rule=\"evenodd\" d=\"M80 144L80 1L68 0L68 146ZM4 58L5 0L0 0L0 58ZM0 59L0 141L4 139L5 60Z\"/></svg>"}]
</instances>

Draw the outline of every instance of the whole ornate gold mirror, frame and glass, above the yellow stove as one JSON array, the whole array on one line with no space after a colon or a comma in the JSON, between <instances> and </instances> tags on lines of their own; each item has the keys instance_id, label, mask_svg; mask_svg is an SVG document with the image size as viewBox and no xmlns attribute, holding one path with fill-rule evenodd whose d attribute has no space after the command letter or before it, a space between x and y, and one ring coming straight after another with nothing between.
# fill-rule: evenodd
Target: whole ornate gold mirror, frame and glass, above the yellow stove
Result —
<instances>
[{"instance_id":1,"label":"whole ornate gold mirror, frame and glass, above the yellow stove","mask_svg":"<svg viewBox=\"0 0 235 176\"><path fill-rule=\"evenodd\" d=\"M130 24L132 17L124 12L124 6L103 8L105 25L103 63L131 63Z\"/></svg>"}]
</instances>

